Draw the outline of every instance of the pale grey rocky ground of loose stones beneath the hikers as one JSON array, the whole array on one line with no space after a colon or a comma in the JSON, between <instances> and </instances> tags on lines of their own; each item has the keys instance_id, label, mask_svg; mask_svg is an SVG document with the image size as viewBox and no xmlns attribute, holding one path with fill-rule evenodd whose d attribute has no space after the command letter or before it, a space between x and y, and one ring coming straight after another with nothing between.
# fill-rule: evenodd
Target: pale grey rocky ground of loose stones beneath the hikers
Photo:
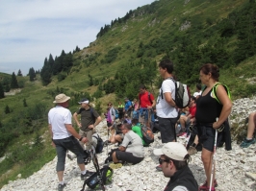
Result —
<instances>
[{"instance_id":1,"label":"pale grey rocky ground of loose stones beneath the hikers","mask_svg":"<svg viewBox=\"0 0 256 191\"><path fill-rule=\"evenodd\" d=\"M234 102L234 107L231 114L231 124L238 124L244 121L248 113L256 110L256 98L241 99ZM97 131L101 137L107 139L106 122L100 123ZM145 158L137 165L126 165L120 169L115 169L113 182L106 186L109 191L161 191L164 190L168 179L163 176L162 172L156 171L158 165L158 157L153 155L155 148L163 146L156 134L155 142L150 147L145 149ZM179 142L184 142L184 139L179 139ZM115 148L115 145L109 146ZM253 191L256 190L256 144L249 148L241 149L236 141L232 143L232 151L225 151L224 148L217 149L217 180L218 191ZM198 152L192 155L190 168L197 180L198 184L205 181L204 169L200 159L201 153ZM103 153L98 155L99 163L102 166L103 161L107 157L107 148L104 148ZM41 170L36 172L28 179L16 179L10 181L9 184L2 187L1 191L13 190L56 190L58 185L57 174L55 171L56 157L45 164ZM87 168L94 171L92 163ZM20 175L22 177L22 175ZM76 159L69 160L66 158L64 179L67 183L64 190L73 191L81 190L83 181L80 179L80 170L76 165ZM86 190L90 190L86 187Z\"/></svg>"}]
</instances>

